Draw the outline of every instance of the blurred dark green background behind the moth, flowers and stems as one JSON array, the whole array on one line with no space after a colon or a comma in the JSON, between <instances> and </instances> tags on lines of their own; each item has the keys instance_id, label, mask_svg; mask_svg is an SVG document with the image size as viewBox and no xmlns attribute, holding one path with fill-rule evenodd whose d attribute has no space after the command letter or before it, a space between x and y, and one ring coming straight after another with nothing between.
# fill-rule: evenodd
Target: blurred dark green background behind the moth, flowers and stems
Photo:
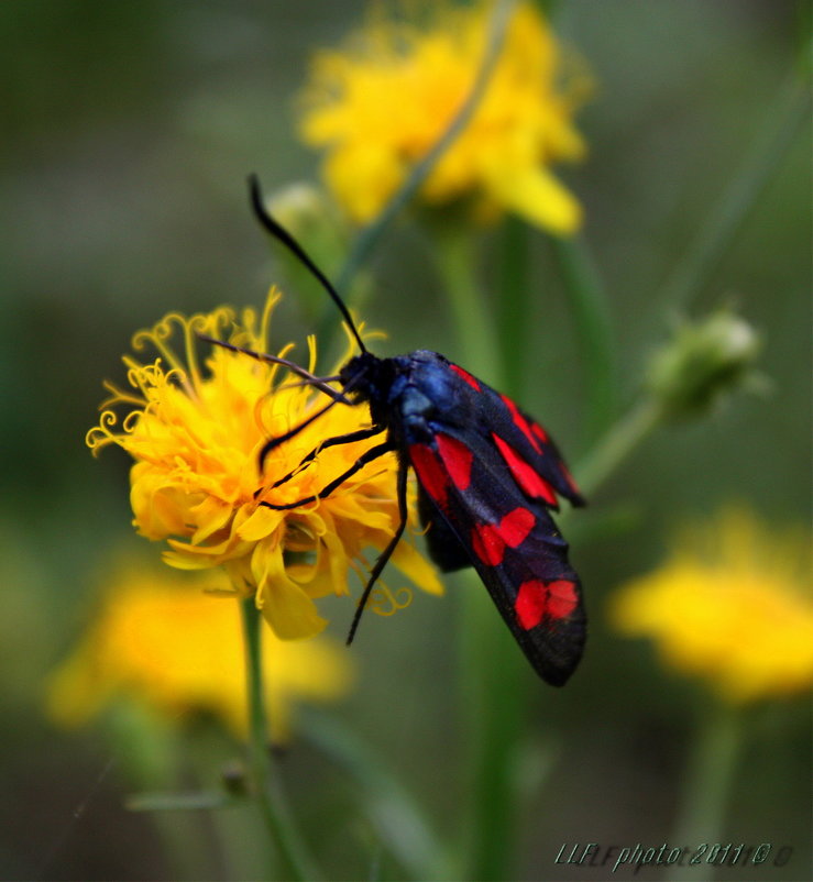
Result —
<instances>
[{"instance_id":1,"label":"blurred dark green background behind the moth, flowers and stems","mask_svg":"<svg viewBox=\"0 0 813 882\"><path fill-rule=\"evenodd\" d=\"M600 84L580 117L591 155L565 177L585 206L631 397L671 318L658 291L791 68L798 7L573 0L559 8L559 32ZM106 553L130 539L128 463L112 450L94 461L84 434L101 381L122 378L133 331L171 309L260 305L278 279L246 208L245 176L260 173L268 190L315 177L317 157L296 139L294 96L312 49L340 38L362 9L316 0L0 3L4 879L178 872L150 819L121 808L127 785L100 731L66 736L41 716L44 674L79 632ZM567 690L529 691L532 728L545 732L554 720L565 738L552 779L524 813L523 878L564 878L552 863L563 842L659 846L669 837L696 690L663 672L648 647L609 631L609 593L662 560L675 523L718 504L744 500L777 527L809 520L809 155L805 130L692 304L699 315L734 297L765 337L770 393L659 433L580 516L573 556L587 588L591 643ZM535 236L537 354L524 404L578 454L579 360L543 239ZM431 348L465 364L425 247L409 224L389 234L374 260L365 318L389 333L383 354ZM486 278L490 247L486 236ZM295 304L287 298L276 344L312 330ZM608 512L624 531L600 529ZM366 622L353 648L358 691L337 710L426 802L443 835L453 835L462 798L458 611L450 584L443 600L419 596L408 611ZM334 615L341 636L348 608ZM802 879L809 712L803 703L763 708L751 724L725 836L791 845L794 863L784 875L762 868L721 878ZM331 878L366 872L351 784L307 746L286 764ZM231 869L206 849L187 856L190 878L260 872L251 842L233 850L241 849ZM604 875L583 869L567 878Z\"/></svg>"}]
</instances>

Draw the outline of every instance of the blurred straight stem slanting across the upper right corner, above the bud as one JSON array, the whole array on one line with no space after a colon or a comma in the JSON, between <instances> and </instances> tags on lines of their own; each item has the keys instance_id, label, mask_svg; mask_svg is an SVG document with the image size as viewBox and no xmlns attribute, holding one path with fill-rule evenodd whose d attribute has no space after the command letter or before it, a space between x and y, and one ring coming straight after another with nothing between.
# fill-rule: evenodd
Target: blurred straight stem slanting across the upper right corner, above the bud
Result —
<instances>
[{"instance_id":1,"label":"blurred straight stem slanting across the upper right corner, above the bud","mask_svg":"<svg viewBox=\"0 0 813 882\"><path fill-rule=\"evenodd\" d=\"M771 102L734 179L664 284L658 297L658 316L664 307L685 309L691 298L702 293L809 115L807 82L794 70Z\"/></svg>"}]
</instances>

